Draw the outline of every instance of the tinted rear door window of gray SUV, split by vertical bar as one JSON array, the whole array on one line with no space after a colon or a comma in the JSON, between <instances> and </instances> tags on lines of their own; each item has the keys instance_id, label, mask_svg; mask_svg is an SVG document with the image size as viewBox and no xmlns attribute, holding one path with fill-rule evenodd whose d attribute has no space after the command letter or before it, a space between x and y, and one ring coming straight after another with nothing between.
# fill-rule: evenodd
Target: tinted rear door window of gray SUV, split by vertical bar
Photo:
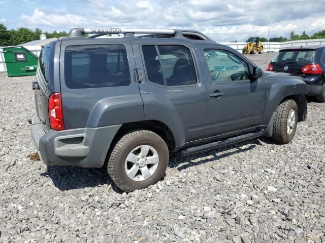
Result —
<instances>
[{"instance_id":1,"label":"tinted rear door window of gray SUV, split by vertical bar","mask_svg":"<svg viewBox=\"0 0 325 243\"><path fill-rule=\"evenodd\" d=\"M181 45L142 47L150 82L165 86L195 85L196 71L191 52Z\"/></svg>"}]
</instances>

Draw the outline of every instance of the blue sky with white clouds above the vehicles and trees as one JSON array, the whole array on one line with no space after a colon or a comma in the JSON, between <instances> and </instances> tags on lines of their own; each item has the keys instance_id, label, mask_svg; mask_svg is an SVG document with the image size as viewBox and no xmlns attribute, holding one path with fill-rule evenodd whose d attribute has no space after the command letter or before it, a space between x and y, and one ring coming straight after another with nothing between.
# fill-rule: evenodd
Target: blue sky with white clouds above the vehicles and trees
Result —
<instances>
[{"instance_id":1,"label":"blue sky with white clouds above the vehicles and trees","mask_svg":"<svg viewBox=\"0 0 325 243\"><path fill-rule=\"evenodd\" d=\"M325 0L0 0L7 28L194 29L216 42L325 29Z\"/></svg>"}]
</instances>

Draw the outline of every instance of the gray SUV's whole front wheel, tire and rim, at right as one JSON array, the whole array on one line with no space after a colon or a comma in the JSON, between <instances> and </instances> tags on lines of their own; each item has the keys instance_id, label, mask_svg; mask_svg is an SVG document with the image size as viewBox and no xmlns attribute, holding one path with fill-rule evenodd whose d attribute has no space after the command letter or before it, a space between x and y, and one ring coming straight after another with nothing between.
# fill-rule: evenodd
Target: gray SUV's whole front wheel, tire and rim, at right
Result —
<instances>
[{"instance_id":1,"label":"gray SUV's whole front wheel, tire and rim, at right","mask_svg":"<svg viewBox=\"0 0 325 243\"><path fill-rule=\"evenodd\" d=\"M276 109L272 138L286 144L293 140L298 123L298 106L294 100L283 101Z\"/></svg>"}]
</instances>

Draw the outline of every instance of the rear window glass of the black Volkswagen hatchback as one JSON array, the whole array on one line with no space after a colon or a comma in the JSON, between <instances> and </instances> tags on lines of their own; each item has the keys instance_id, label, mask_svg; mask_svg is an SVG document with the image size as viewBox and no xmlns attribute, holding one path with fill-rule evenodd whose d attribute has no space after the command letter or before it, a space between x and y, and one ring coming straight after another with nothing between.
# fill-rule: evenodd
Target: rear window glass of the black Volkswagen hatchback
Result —
<instances>
[{"instance_id":1,"label":"rear window glass of the black Volkswagen hatchback","mask_svg":"<svg viewBox=\"0 0 325 243\"><path fill-rule=\"evenodd\" d=\"M315 59L314 50L283 51L276 54L272 62L276 63L313 63Z\"/></svg>"}]
</instances>

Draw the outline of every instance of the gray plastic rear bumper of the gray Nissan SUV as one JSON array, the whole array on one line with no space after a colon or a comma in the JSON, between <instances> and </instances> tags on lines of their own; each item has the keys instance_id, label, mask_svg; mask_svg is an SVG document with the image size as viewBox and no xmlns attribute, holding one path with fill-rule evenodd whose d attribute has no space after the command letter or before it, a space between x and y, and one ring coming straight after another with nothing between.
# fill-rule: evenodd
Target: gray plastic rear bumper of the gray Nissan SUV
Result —
<instances>
[{"instance_id":1,"label":"gray plastic rear bumper of the gray Nissan SUV","mask_svg":"<svg viewBox=\"0 0 325 243\"><path fill-rule=\"evenodd\" d=\"M122 125L45 132L37 114L31 119L31 137L47 165L99 168Z\"/></svg>"}]
</instances>

